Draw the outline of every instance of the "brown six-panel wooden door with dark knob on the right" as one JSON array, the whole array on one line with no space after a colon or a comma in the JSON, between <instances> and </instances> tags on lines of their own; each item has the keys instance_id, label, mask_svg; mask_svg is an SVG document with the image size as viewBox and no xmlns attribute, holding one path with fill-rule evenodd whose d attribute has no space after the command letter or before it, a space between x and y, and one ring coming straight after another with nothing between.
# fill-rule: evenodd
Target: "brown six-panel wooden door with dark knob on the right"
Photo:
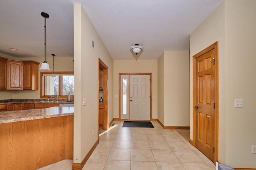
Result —
<instances>
[{"instance_id":1,"label":"brown six-panel wooden door with dark knob on the right","mask_svg":"<svg viewBox=\"0 0 256 170\"><path fill-rule=\"evenodd\" d=\"M213 48L195 59L196 148L215 161L215 58Z\"/></svg>"}]
</instances>

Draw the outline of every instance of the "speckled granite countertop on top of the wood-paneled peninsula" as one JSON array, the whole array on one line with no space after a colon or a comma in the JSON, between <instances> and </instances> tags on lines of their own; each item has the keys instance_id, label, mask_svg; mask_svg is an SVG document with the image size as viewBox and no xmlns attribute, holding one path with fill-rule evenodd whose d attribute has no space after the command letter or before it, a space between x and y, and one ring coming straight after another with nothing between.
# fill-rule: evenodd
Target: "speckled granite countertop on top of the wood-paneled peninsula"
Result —
<instances>
[{"instance_id":1,"label":"speckled granite countertop on top of the wood-paneled peninsula","mask_svg":"<svg viewBox=\"0 0 256 170\"><path fill-rule=\"evenodd\" d=\"M74 115L74 107L49 107L45 109L4 111L0 112L0 124L68 115Z\"/></svg>"}]
</instances>

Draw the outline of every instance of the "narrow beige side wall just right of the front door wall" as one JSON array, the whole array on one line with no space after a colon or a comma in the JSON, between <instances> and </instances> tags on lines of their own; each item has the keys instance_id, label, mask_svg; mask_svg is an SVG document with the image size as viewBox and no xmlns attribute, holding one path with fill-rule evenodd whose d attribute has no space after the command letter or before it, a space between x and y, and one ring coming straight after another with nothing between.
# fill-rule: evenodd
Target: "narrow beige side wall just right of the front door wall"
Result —
<instances>
[{"instance_id":1,"label":"narrow beige side wall just right of the front door wall","mask_svg":"<svg viewBox=\"0 0 256 170\"><path fill-rule=\"evenodd\" d=\"M164 53L158 58L158 112L157 119L164 124Z\"/></svg>"}]
</instances>

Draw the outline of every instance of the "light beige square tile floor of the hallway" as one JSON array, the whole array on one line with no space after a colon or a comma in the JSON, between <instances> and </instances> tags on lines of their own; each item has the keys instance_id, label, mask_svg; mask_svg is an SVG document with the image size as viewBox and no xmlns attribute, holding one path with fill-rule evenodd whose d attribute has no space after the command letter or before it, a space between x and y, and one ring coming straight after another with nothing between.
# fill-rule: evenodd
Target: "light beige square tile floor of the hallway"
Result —
<instances>
[{"instance_id":1,"label":"light beige square tile floor of the hallway","mask_svg":"<svg viewBox=\"0 0 256 170\"><path fill-rule=\"evenodd\" d=\"M123 128L114 121L101 130L100 143L82 170L216 170L214 163L176 130ZM73 160L62 160L39 170L71 170Z\"/></svg>"}]
</instances>

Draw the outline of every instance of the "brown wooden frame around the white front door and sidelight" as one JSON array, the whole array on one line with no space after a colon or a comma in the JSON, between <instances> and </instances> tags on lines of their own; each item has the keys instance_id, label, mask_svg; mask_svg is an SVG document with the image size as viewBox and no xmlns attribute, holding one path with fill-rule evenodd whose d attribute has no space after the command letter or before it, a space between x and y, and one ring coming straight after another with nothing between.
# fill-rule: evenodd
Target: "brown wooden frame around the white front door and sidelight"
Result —
<instances>
[{"instance_id":1,"label":"brown wooden frame around the white front door and sidelight","mask_svg":"<svg viewBox=\"0 0 256 170\"><path fill-rule=\"evenodd\" d=\"M119 105L118 105L118 110L119 110L119 116L118 116L118 120L120 121L121 120L121 93L120 93L120 81L121 81L121 75L150 75L150 121L153 121L152 120L152 73L119 73L119 81L118 81L118 87L119 87L119 91L118 91L118 96L119 96ZM129 87L130 88L130 87ZM130 91L130 89L129 89ZM130 102L129 102L129 106L130 108ZM129 109L129 112L130 112L130 109ZM129 113L129 120L130 120L130 113Z\"/></svg>"}]
</instances>

